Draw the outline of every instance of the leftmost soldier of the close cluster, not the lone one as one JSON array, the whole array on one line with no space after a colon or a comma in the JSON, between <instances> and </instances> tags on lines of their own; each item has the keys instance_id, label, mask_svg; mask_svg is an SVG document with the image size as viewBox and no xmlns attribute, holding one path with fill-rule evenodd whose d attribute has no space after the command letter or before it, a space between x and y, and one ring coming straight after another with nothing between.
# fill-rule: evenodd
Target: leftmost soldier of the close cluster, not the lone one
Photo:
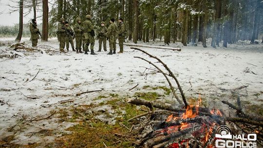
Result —
<instances>
[{"instance_id":1,"label":"leftmost soldier of the close cluster, not the lone one","mask_svg":"<svg viewBox=\"0 0 263 148\"><path fill-rule=\"evenodd\" d=\"M59 40L59 51L61 53L65 53L65 36L66 36L66 30L65 30L65 19L61 18L59 19L59 23L57 25L57 37Z\"/></svg>"}]
</instances>

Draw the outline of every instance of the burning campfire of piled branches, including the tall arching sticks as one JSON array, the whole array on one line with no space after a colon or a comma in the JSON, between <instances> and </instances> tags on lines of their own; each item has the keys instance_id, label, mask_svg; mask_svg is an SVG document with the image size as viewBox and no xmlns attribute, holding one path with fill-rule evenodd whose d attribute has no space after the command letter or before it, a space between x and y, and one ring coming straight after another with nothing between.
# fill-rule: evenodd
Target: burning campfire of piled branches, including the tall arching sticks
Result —
<instances>
[{"instance_id":1,"label":"burning campfire of piled branches, including the tall arching sticks","mask_svg":"<svg viewBox=\"0 0 263 148\"><path fill-rule=\"evenodd\" d=\"M147 61L156 68L153 69L155 72L165 76L173 96L181 104L175 107L172 104L167 105L155 101L129 99L128 102L131 104L144 105L150 109L149 113L129 120L137 119L137 129L136 125L133 129L137 135L142 135L142 138L134 142L137 148L263 148L263 117L245 114L239 96L237 107L227 101L222 101L236 110L236 114L233 115L225 115L219 109L201 107L200 96L195 104L188 104L178 80L161 59L138 48L132 49L156 59L165 67L169 74L153 62L142 57L135 57ZM168 76L176 81L184 102L183 107L183 102L176 95ZM154 111L154 109L161 110ZM147 115L150 117L147 118Z\"/></svg>"}]
</instances>

